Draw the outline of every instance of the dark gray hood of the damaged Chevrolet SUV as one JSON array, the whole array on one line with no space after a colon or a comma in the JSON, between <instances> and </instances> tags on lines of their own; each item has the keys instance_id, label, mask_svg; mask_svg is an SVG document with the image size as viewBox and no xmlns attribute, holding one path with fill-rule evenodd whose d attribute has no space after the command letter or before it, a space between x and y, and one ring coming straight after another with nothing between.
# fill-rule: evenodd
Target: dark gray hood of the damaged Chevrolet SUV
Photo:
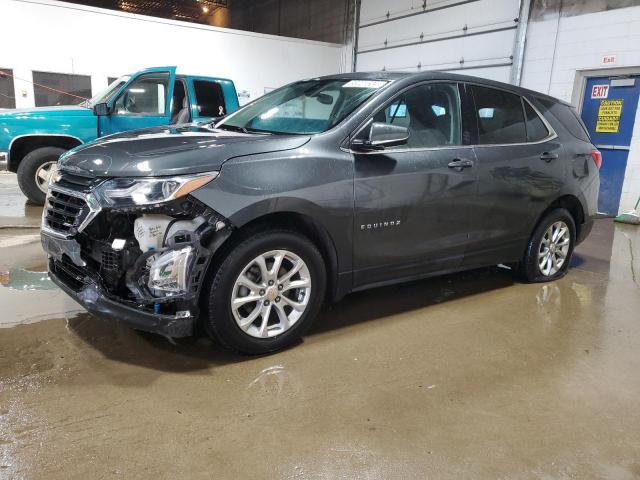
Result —
<instances>
[{"instance_id":1,"label":"dark gray hood of the damaged Chevrolet SUV","mask_svg":"<svg viewBox=\"0 0 640 480\"><path fill-rule=\"evenodd\" d=\"M218 170L233 157L301 147L307 135L260 135L196 124L134 130L70 150L60 168L96 177L149 177Z\"/></svg>"}]
</instances>

